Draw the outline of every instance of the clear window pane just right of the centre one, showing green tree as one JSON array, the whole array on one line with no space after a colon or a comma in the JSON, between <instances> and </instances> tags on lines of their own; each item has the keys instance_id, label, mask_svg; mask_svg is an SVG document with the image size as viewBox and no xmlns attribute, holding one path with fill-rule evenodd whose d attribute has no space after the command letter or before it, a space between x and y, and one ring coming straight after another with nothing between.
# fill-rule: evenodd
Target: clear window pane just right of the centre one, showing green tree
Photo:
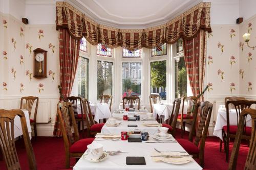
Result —
<instances>
[{"instance_id":1,"label":"clear window pane just right of the centre one, showing green tree","mask_svg":"<svg viewBox=\"0 0 256 170\"><path fill-rule=\"evenodd\" d=\"M158 93L166 100L166 61L151 62L151 93Z\"/></svg>"}]
</instances>

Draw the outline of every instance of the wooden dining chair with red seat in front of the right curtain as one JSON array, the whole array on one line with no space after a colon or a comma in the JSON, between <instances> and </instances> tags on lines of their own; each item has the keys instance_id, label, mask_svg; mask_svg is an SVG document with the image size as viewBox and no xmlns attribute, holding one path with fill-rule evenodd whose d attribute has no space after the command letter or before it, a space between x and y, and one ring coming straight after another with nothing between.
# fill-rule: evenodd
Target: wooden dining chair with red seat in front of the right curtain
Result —
<instances>
[{"instance_id":1,"label":"wooden dining chair with red seat in front of the right curtain","mask_svg":"<svg viewBox=\"0 0 256 170\"><path fill-rule=\"evenodd\" d=\"M184 104L185 101L187 102L187 111L184 113ZM197 97L196 96L189 96L184 97L182 102L182 111L181 114L178 115L177 121L180 122L180 128L181 128L181 137L183 138L183 133L185 133L185 127L186 123L192 123L193 122L193 109L197 103Z\"/></svg>"}]
</instances>

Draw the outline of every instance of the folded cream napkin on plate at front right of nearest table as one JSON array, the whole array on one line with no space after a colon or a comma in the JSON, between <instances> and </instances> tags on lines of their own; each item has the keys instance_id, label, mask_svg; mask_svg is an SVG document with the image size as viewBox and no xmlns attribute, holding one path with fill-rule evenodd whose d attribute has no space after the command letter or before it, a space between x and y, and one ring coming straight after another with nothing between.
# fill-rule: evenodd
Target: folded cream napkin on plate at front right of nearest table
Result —
<instances>
[{"instance_id":1,"label":"folded cream napkin on plate at front right of nearest table","mask_svg":"<svg viewBox=\"0 0 256 170\"><path fill-rule=\"evenodd\" d=\"M188 155L187 153L180 153L180 152L153 152L152 156L160 156L160 155L168 155L168 156L179 156L179 155ZM180 157L180 158L172 158L172 157L152 157L152 160L157 162L157 161L163 161L166 163L174 163L174 164L180 164L180 163L187 163L189 161L192 161L193 158L191 157Z\"/></svg>"}]
</instances>

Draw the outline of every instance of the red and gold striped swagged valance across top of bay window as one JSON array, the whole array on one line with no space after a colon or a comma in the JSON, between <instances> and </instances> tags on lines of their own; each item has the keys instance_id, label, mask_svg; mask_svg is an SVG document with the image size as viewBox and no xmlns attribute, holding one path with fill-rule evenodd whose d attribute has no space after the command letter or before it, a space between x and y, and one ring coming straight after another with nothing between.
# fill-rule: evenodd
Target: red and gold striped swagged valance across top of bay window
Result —
<instances>
[{"instance_id":1,"label":"red and gold striped swagged valance across top of bay window","mask_svg":"<svg viewBox=\"0 0 256 170\"><path fill-rule=\"evenodd\" d=\"M180 37L192 39L203 29L211 32L210 3L199 3L167 23L147 29L117 29L100 25L66 2L56 2L56 28L67 28L75 39L85 37L92 45L128 50L172 44Z\"/></svg>"}]
</instances>

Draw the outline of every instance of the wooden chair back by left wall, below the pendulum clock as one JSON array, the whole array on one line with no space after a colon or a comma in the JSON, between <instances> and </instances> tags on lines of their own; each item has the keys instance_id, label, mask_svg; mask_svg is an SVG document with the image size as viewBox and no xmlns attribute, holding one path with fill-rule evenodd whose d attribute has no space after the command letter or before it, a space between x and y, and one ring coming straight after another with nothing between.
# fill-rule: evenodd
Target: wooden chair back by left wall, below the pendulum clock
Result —
<instances>
[{"instance_id":1,"label":"wooden chair back by left wall, below the pendulum clock","mask_svg":"<svg viewBox=\"0 0 256 170\"><path fill-rule=\"evenodd\" d=\"M20 109L23 109L23 100L26 101L26 107L24 109L29 111L29 117L31 117L31 112L32 112L32 108L34 105L34 102L36 101L36 105L35 105L35 112L34 112L34 117L33 120L34 122L36 122L36 115L37 115L37 108L38 108L38 97L34 97L34 96L27 96L27 97L22 97L22 99L20 99Z\"/></svg>"}]
</instances>

